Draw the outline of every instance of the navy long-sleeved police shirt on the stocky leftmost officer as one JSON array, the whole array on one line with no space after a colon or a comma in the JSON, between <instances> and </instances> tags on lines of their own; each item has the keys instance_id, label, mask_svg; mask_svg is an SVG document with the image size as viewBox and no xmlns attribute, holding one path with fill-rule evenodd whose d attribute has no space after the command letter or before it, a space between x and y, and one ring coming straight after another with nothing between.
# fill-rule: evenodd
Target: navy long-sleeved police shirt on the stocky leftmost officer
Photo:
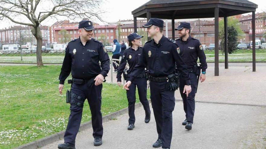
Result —
<instances>
[{"instance_id":1,"label":"navy long-sleeved police shirt on the stocky leftmost officer","mask_svg":"<svg viewBox=\"0 0 266 149\"><path fill-rule=\"evenodd\" d=\"M99 74L106 77L109 70L109 56L104 51L102 43L92 38L83 45L78 38L69 42L66 47L59 80L60 84L64 84L70 72L72 78L76 79L91 79Z\"/></svg>"}]
</instances>

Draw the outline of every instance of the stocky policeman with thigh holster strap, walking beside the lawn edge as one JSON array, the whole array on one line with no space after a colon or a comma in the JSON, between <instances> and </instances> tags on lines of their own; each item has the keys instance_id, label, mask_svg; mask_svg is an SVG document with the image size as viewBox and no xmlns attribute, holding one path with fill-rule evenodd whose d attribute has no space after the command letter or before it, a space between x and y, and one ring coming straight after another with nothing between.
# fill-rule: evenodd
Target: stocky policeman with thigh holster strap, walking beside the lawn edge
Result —
<instances>
[{"instance_id":1,"label":"stocky policeman with thigh holster strap, walking beside the lawn edge","mask_svg":"<svg viewBox=\"0 0 266 149\"><path fill-rule=\"evenodd\" d=\"M70 116L64 135L64 144L59 149L74 149L81 122L83 104L88 100L92 115L94 145L102 144L102 82L110 70L109 56L101 42L92 38L91 21L79 22L79 38L69 42L59 75L59 92L62 94L65 79L72 74ZM99 61L101 64L99 64Z\"/></svg>"}]
</instances>

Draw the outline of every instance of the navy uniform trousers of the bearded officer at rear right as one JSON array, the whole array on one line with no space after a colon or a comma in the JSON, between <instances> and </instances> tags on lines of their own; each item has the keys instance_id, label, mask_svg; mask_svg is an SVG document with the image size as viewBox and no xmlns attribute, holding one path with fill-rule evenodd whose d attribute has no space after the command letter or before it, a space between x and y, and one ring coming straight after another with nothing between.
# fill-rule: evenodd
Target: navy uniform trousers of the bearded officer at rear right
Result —
<instances>
[{"instance_id":1,"label":"navy uniform trousers of the bearded officer at rear right","mask_svg":"<svg viewBox=\"0 0 266 149\"><path fill-rule=\"evenodd\" d=\"M184 111L186 113L187 121L193 123L194 112L195 112L195 94L197 88L197 76L193 72L190 72L189 75L191 83L191 92L188 94L188 97L186 94L183 93L185 82L182 80L182 78L180 78L179 91L183 99L183 106L184 106Z\"/></svg>"}]
</instances>

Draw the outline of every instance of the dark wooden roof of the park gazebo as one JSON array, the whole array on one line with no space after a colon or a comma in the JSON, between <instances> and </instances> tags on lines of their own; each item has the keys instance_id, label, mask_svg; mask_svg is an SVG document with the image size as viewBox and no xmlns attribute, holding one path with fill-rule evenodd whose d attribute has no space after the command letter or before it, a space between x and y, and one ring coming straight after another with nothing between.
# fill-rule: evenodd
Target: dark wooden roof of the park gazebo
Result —
<instances>
[{"instance_id":1,"label":"dark wooden roof of the park gazebo","mask_svg":"<svg viewBox=\"0 0 266 149\"><path fill-rule=\"evenodd\" d=\"M190 19L214 17L214 9L219 7L219 17L233 16L256 11L258 5L248 0L150 0L132 11L133 17L161 19Z\"/></svg>"}]
</instances>

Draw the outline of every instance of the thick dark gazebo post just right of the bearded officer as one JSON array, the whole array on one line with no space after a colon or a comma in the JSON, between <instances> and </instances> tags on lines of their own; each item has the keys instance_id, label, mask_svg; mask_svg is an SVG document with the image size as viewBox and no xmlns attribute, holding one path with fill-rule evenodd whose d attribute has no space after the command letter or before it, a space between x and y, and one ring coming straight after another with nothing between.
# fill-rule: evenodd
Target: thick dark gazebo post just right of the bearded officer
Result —
<instances>
[{"instance_id":1,"label":"thick dark gazebo post just right of the bearded officer","mask_svg":"<svg viewBox=\"0 0 266 149\"><path fill-rule=\"evenodd\" d=\"M214 76L219 76L219 7L214 11L214 36L215 36L215 52L214 52Z\"/></svg>"}]
</instances>

